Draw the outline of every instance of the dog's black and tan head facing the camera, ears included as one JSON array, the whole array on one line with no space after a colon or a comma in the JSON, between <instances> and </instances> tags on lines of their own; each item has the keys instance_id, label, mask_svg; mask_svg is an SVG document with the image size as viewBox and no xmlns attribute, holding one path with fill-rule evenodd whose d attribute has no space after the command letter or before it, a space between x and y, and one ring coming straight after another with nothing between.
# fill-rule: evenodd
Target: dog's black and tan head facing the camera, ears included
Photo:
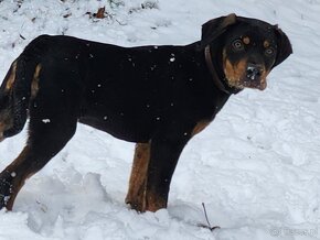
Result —
<instances>
[{"instance_id":1,"label":"dog's black and tan head facing the camera, ears included","mask_svg":"<svg viewBox=\"0 0 320 240\"><path fill-rule=\"evenodd\" d=\"M201 48L207 45L222 50L212 57L220 57L228 86L236 89L264 90L270 70L292 53L289 39L277 25L235 14L203 24Z\"/></svg>"}]
</instances>

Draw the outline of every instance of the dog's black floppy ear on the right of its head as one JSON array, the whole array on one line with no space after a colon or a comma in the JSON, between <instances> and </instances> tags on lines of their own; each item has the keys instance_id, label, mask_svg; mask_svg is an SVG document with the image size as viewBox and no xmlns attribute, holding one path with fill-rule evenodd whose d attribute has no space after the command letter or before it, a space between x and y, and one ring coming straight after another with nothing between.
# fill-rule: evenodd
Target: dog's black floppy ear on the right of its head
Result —
<instances>
[{"instance_id":1,"label":"dog's black floppy ear on the right of its head","mask_svg":"<svg viewBox=\"0 0 320 240\"><path fill-rule=\"evenodd\" d=\"M276 32L276 37L277 37L278 51L277 51L276 62L273 67L282 63L292 53L291 43L288 36L278 28L278 25L275 25L275 32Z\"/></svg>"}]
</instances>

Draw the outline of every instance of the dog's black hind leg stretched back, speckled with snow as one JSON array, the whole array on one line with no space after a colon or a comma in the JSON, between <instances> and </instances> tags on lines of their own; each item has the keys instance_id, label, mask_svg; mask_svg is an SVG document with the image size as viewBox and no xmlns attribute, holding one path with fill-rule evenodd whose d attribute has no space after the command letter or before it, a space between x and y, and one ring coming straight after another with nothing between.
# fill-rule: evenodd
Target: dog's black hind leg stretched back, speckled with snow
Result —
<instances>
[{"instance_id":1,"label":"dog's black hind leg stretched back, speckled with snow","mask_svg":"<svg viewBox=\"0 0 320 240\"><path fill-rule=\"evenodd\" d=\"M46 116L47 108L50 116ZM31 111L29 139L20 155L0 174L0 208L12 209L25 179L40 171L58 153L76 130L77 119L70 111L43 106Z\"/></svg>"}]
</instances>

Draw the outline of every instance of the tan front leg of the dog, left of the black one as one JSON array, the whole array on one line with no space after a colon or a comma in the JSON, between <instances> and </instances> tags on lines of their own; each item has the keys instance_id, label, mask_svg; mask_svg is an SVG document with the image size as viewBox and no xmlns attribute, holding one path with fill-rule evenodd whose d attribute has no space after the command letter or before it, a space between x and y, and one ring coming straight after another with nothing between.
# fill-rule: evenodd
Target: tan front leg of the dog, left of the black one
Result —
<instances>
[{"instance_id":1,"label":"tan front leg of the dog, left of the black one","mask_svg":"<svg viewBox=\"0 0 320 240\"><path fill-rule=\"evenodd\" d=\"M137 143L126 203L137 211L146 209L147 173L151 143Z\"/></svg>"}]
</instances>

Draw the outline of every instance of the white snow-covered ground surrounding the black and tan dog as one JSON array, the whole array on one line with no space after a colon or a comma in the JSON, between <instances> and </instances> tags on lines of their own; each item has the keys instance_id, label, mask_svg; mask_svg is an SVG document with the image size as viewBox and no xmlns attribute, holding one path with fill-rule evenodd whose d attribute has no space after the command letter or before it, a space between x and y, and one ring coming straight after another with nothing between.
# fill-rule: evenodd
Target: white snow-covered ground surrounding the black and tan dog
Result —
<instances>
[{"instance_id":1,"label":"white snow-covered ground surrounding the black and tan dog","mask_svg":"<svg viewBox=\"0 0 320 240\"><path fill-rule=\"evenodd\" d=\"M108 18L86 14L104 6ZM168 209L128 209L134 144L78 126L67 146L28 181L13 211L0 211L0 239L320 239L319 0L4 0L0 78L39 34L181 45L200 39L202 23L231 12L278 23L295 54L273 70L267 90L232 97L189 143ZM1 170L24 141L25 131L1 142ZM198 227L206 223L202 203L221 229Z\"/></svg>"}]
</instances>

